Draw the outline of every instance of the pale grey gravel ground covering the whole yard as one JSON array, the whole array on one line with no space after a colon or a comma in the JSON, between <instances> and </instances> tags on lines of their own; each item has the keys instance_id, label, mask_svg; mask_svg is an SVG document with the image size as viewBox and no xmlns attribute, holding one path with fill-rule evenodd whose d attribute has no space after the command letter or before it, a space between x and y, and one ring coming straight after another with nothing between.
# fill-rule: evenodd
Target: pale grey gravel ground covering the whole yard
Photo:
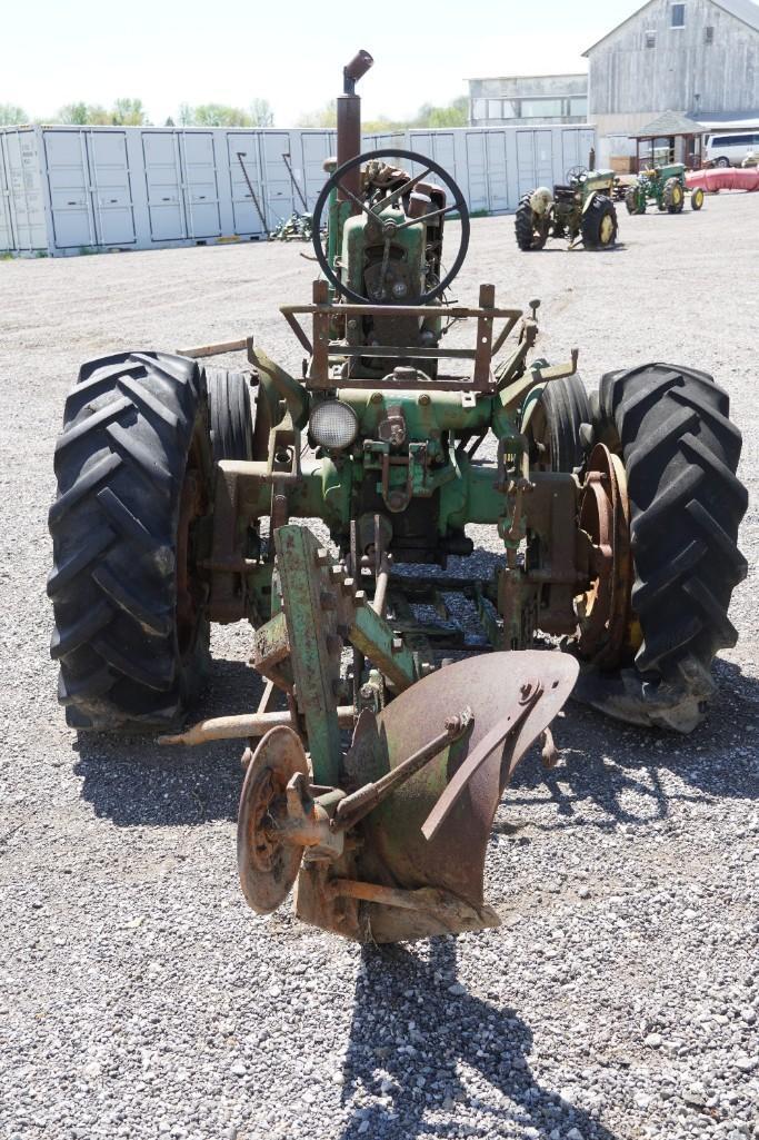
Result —
<instances>
[{"instance_id":1,"label":"pale grey gravel ground covering the whole yard","mask_svg":"<svg viewBox=\"0 0 759 1140\"><path fill-rule=\"evenodd\" d=\"M476 220L456 296L541 296L541 350L579 344L594 383L663 358L728 389L752 496L741 641L689 739L570 705L561 765L530 756L499 809L503 926L386 950L288 905L254 915L239 748L77 740L48 658L52 447L79 363L252 327L297 367L276 306L308 300L312 267L292 245L0 263L3 1137L759 1135L759 196L623 215L621 236L528 255L511 218ZM248 648L243 626L215 633L202 714L250 707Z\"/></svg>"}]
</instances>

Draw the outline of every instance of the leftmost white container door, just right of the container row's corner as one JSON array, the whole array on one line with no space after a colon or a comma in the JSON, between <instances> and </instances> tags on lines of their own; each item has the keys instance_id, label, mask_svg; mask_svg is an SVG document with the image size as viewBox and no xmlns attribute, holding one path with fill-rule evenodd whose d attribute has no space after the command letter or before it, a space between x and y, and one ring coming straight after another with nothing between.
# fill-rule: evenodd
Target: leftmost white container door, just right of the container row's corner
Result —
<instances>
[{"instance_id":1,"label":"leftmost white container door, just right of the container row's corner","mask_svg":"<svg viewBox=\"0 0 759 1140\"><path fill-rule=\"evenodd\" d=\"M97 245L84 131L46 131L43 138L56 246Z\"/></svg>"}]
</instances>

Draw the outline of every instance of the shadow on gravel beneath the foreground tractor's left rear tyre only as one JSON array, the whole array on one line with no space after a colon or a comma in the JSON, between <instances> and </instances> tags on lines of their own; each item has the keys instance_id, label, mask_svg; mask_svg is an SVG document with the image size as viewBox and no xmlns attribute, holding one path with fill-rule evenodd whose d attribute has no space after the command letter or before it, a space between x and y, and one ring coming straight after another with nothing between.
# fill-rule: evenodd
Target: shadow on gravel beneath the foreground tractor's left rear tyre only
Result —
<instances>
[{"instance_id":1,"label":"shadow on gravel beneath the foreground tractor's left rear tyre only","mask_svg":"<svg viewBox=\"0 0 759 1140\"><path fill-rule=\"evenodd\" d=\"M261 678L242 661L215 659L191 720L254 709ZM245 740L193 748L161 746L150 736L80 732L74 773L82 798L116 826L193 826L237 819Z\"/></svg>"}]
</instances>

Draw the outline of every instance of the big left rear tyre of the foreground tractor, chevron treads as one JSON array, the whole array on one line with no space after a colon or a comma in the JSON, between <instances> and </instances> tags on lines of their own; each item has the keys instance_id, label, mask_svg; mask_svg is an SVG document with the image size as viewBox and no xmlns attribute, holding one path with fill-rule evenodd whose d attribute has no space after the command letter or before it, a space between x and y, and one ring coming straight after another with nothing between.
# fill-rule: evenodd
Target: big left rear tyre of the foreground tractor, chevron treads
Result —
<instances>
[{"instance_id":1,"label":"big left rear tyre of the foreground tractor, chevron treads","mask_svg":"<svg viewBox=\"0 0 759 1140\"><path fill-rule=\"evenodd\" d=\"M56 443L48 579L58 699L77 728L182 719L209 666L212 462L203 373L162 352L82 366Z\"/></svg>"}]
</instances>

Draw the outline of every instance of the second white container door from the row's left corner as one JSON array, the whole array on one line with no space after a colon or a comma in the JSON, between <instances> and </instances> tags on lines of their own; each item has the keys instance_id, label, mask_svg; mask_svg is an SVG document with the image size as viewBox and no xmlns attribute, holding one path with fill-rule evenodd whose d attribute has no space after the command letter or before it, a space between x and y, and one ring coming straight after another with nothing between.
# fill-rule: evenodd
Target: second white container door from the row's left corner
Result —
<instances>
[{"instance_id":1,"label":"second white container door from the row's left corner","mask_svg":"<svg viewBox=\"0 0 759 1140\"><path fill-rule=\"evenodd\" d=\"M124 131L90 131L87 150L98 245L131 245L134 213Z\"/></svg>"}]
</instances>

